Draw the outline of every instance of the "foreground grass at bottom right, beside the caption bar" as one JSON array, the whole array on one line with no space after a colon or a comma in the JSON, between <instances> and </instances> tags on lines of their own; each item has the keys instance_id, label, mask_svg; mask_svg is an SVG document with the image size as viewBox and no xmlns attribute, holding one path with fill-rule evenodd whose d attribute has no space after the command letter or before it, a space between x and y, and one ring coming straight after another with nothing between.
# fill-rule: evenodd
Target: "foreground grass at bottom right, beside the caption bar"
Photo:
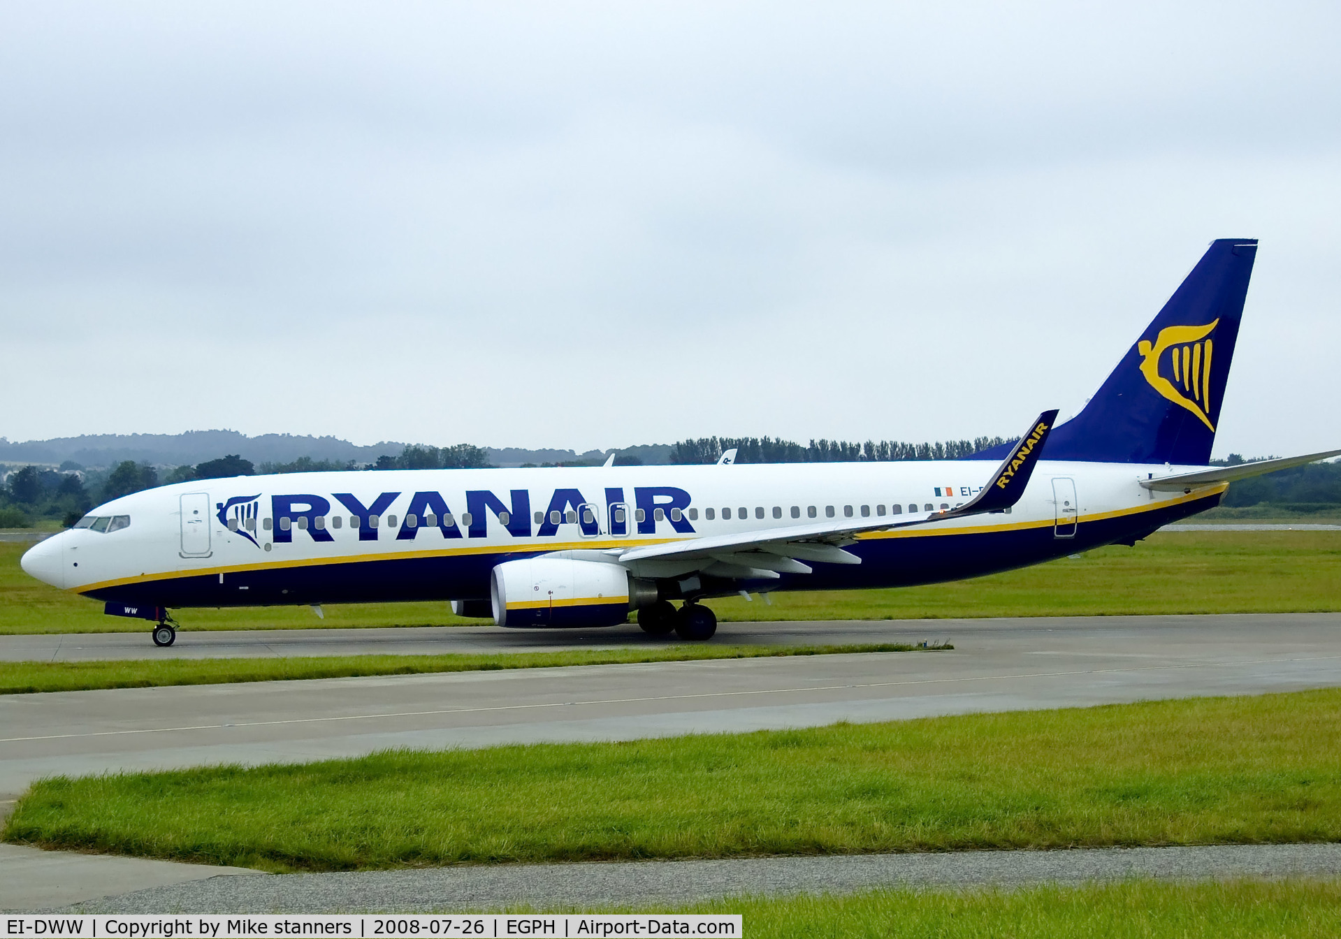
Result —
<instances>
[{"instance_id":1,"label":"foreground grass at bottom right, beside the caption bar","mask_svg":"<svg viewBox=\"0 0 1341 939\"><path fill-rule=\"evenodd\" d=\"M683 912L742 914L750 939L1330 939L1341 935L1341 881L865 891L730 899Z\"/></svg>"}]
</instances>

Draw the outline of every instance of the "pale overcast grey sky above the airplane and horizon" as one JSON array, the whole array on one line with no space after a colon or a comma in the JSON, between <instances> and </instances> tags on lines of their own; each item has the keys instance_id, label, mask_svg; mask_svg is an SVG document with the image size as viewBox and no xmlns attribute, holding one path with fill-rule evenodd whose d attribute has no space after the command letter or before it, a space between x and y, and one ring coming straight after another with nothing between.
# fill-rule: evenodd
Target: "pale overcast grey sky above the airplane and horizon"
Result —
<instances>
[{"instance_id":1,"label":"pale overcast grey sky above the airplane and horizon","mask_svg":"<svg viewBox=\"0 0 1341 939\"><path fill-rule=\"evenodd\" d=\"M945 439L1259 237L1216 453L1341 445L1341 5L0 7L0 435Z\"/></svg>"}]
</instances>

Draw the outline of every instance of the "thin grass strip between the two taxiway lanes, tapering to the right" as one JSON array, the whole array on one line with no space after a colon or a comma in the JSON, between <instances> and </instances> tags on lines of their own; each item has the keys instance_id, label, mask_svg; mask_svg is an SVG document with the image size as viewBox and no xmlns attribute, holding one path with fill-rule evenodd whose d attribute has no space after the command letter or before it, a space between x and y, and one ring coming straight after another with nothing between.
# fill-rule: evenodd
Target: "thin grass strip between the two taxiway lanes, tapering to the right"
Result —
<instances>
[{"instance_id":1,"label":"thin grass strip between the two taxiway lanes, tapering to the right","mask_svg":"<svg viewBox=\"0 0 1341 939\"><path fill-rule=\"evenodd\" d=\"M952 649L928 645L927 649ZM169 684L225 684L342 679L355 675L422 675L479 672L504 668L614 665L640 661L699 661L704 659L770 659L849 652L913 652L901 643L865 645L701 645L680 644L636 649L571 649L439 656L322 656L314 659L131 659L117 661L0 661L0 695L94 688L152 688Z\"/></svg>"}]
</instances>

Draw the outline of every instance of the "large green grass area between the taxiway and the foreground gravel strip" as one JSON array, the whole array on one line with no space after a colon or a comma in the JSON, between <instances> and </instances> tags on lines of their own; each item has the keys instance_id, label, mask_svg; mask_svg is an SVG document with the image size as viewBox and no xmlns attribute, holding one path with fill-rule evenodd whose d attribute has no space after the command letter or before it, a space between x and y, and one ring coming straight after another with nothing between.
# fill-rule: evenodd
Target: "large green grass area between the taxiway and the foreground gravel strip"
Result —
<instances>
[{"instance_id":1,"label":"large green grass area between the taxiway and the foreground gravel strip","mask_svg":"<svg viewBox=\"0 0 1341 939\"><path fill-rule=\"evenodd\" d=\"M1341 838L1341 689L40 781L4 838L354 871Z\"/></svg>"}]
</instances>

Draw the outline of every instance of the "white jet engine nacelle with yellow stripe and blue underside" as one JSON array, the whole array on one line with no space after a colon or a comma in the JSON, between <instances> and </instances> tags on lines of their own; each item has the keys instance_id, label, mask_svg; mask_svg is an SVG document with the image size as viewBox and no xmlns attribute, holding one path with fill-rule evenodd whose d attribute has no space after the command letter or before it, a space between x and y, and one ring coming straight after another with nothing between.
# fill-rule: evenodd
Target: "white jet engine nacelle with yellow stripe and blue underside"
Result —
<instances>
[{"instance_id":1,"label":"white jet engine nacelle with yellow stripe and blue underside","mask_svg":"<svg viewBox=\"0 0 1341 939\"><path fill-rule=\"evenodd\" d=\"M629 571L569 558L504 561L489 582L500 626L614 626L629 618Z\"/></svg>"}]
</instances>

